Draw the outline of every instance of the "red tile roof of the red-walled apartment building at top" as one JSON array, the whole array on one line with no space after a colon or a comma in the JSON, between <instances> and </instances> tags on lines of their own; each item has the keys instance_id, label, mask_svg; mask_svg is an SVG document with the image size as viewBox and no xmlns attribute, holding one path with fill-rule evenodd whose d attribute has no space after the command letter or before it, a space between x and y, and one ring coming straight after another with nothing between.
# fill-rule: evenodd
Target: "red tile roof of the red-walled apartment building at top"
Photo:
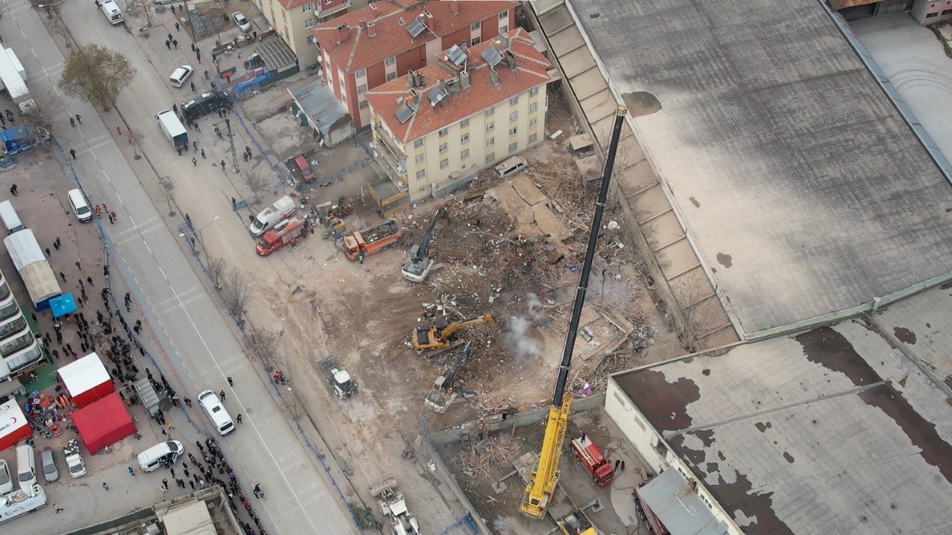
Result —
<instances>
[{"instance_id":1,"label":"red tile roof of the red-walled apartment building at top","mask_svg":"<svg viewBox=\"0 0 952 535\"><path fill-rule=\"evenodd\" d=\"M341 67L346 74L376 65L391 56L419 47L427 41L468 28L475 22L486 20L495 14L510 10L516 2L510 0L479 0L457 2L459 14L454 15L450 2L441 0L378 0L371 6L350 11L310 29L322 50ZM414 38L407 26L418 15L428 11L432 18L425 17L428 30ZM360 19L374 23L376 35L367 36L367 28L361 28ZM404 23L400 24L400 19ZM509 23L513 23L510 21ZM347 25L348 35L338 44L338 27Z\"/></svg>"}]
</instances>

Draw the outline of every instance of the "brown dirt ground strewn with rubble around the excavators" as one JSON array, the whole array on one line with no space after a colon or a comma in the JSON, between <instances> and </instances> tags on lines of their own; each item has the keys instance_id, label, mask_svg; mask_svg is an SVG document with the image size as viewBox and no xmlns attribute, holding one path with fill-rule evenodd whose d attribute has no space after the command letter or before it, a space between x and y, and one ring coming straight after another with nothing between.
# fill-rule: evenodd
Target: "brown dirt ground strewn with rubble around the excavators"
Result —
<instances>
[{"instance_id":1,"label":"brown dirt ground strewn with rubble around the excavators","mask_svg":"<svg viewBox=\"0 0 952 535\"><path fill-rule=\"evenodd\" d=\"M277 123L268 127L281 121L273 114L287 115L280 113L281 103L274 99L248 103L253 107L248 117L263 127L263 137L269 140L285 127ZM557 98L550 102L555 107L551 113L562 118L560 128L570 128L566 110L558 105ZM254 257L251 239L245 244L246 239L236 237L225 244L226 258L248 258L242 269L256 281L249 306L255 310L253 323L282 334L279 366L287 370L295 385L294 403L300 404L293 411L322 430L335 461L352 486L361 489L357 494L364 504L373 502L363 489L394 477L426 530L440 532L462 509L425 466L407 459L407 449L421 432L450 428L500 407L525 411L547 405L596 195L573 175L564 140L560 137L529 151L525 156L530 167L521 174L558 206L557 217L570 231L561 242L532 232L506 213L499 201L486 196L486 189L499 181L484 173L446 199L419 203L398 214L395 219L404 229L404 239L390 251L367 257L364 264L348 261L339 244L320 239L320 234L267 259ZM276 152L285 150L290 149ZM366 180L358 174L338 187L359 191L364 185L359 182ZM379 222L369 199L361 201L352 194L348 201L354 213L346 218L347 228ZM423 283L411 283L401 277L400 269L410 245L420 239L440 206L446 207L449 220L437 225L430 241L436 267ZM613 218L609 206L604 224ZM570 384L574 391L581 391L585 383L596 391L604 389L607 373L677 351L677 338L664 328L664 317L655 310L650 279L640 271L636 252L618 247L626 241L620 230L605 231L587 302L618 311L636 332L604 359L577 359ZM500 320L499 329L479 325L460 332L461 339L475 343L456 374L457 392L466 395L459 395L443 414L430 411L424 403L426 393L459 350L426 358L409 346L411 330L434 318L456 320L486 313ZM359 382L355 398L341 401L332 396L320 367L329 358ZM541 443L541 430L526 432L520 453ZM446 464L455 466L451 458ZM467 480L470 499L481 504L486 518L511 523L506 520L514 510L511 500L483 504L485 499L478 499L485 495L481 486L491 481L477 479Z\"/></svg>"}]
</instances>

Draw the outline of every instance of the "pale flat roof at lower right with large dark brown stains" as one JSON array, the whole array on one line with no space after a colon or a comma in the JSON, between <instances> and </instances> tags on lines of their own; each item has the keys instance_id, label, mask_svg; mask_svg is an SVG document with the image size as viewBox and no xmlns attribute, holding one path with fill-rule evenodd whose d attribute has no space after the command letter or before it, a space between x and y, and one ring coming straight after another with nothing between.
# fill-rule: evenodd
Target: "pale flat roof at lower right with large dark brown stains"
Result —
<instances>
[{"instance_id":1,"label":"pale flat roof at lower right with large dark brown stains","mask_svg":"<svg viewBox=\"0 0 952 535\"><path fill-rule=\"evenodd\" d=\"M613 378L745 533L952 531L948 398L866 322Z\"/></svg>"}]
</instances>

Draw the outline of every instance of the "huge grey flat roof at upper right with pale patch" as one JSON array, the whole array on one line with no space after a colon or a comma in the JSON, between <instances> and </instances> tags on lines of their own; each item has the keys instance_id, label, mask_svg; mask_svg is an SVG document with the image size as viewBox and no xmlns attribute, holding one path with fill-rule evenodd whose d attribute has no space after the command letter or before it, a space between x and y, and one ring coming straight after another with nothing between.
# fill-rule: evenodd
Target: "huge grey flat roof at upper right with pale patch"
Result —
<instances>
[{"instance_id":1,"label":"huge grey flat roof at upper right with pale patch","mask_svg":"<svg viewBox=\"0 0 952 535\"><path fill-rule=\"evenodd\" d=\"M570 5L744 334L952 271L952 187L819 2Z\"/></svg>"}]
</instances>

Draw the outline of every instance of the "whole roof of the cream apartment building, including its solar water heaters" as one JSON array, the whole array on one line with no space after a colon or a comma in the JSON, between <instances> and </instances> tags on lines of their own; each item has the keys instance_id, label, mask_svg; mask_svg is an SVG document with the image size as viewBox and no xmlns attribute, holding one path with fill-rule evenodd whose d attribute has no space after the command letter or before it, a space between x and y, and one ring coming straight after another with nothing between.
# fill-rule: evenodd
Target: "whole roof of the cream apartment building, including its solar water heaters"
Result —
<instances>
[{"instance_id":1,"label":"whole roof of the cream apartment building, including its solar water heaters","mask_svg":"<svg viewBox=\"0 0 952 535\"><path fill-rule=\"evenodd\" d=\"M507 35L508 48L501 46L499 39L480 43L468 50L452 48L457 61L467 66L468 87L458 81L456 70L447 68L459 67L448 61L444 50L439 54L440 60L434 59L415 71L424 79L424 85L415 89L418 92L416 97L409 93L407 79L410 74L406 74L367 91L367 101L387 123L394 137L401 143L408 143L504 103L532 87L548 83L546 70L549 63L533 46L526 30L512 29ZM496 53L491 54L494 50ZM513 67L502 59L506 55L514 62ZM492 81L486 57L499 62L495 67L498 83ZM414 102L408 102L410 100Z\"/></svg>"}]
</instances>

